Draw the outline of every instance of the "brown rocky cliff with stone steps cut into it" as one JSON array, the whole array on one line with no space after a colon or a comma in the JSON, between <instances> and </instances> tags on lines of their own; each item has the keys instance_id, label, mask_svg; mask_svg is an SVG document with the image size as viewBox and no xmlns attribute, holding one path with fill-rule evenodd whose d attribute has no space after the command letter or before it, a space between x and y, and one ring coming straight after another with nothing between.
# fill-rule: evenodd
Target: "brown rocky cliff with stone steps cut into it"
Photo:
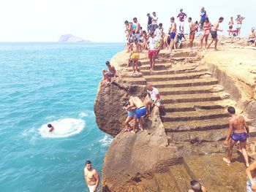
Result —
<instances>
[{"instance_id":1,"label":"brown rocky cliff with stone steps cut into it","mask_svg":"<svg viewBox=\"0 0 256 192\"><path fill-rule=\"evenodd\" d=\"M219 52L184 48L170 55L162 50L154 74L148 72L146 52L135 75L126 67L128 53L113 57L118 78L99 85L94 103L99 128L115 137L102 168L102 191L187 191L192 179L208 191L245 191L241 153L236 148L227 166L222 142L230 105L249 119L251 130L255 126L256 50L238 49L240 42L224 37L221 42ZM159 89L162 108L155 107L144 120L145 131L124 132L127 113L121 102L129 95L144 100L147 82Z\"/></svg>"}]
</instances>

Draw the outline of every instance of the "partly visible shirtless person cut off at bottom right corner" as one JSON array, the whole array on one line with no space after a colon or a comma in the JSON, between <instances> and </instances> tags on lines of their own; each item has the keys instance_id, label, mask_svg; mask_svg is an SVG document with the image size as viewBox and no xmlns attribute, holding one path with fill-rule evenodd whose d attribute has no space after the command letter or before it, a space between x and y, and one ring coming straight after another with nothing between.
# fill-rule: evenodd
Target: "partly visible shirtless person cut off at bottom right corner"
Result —
<instances>
[{"instance_id":1,"label":"partly visible shirtless person cut off at bottom right corner","mask_svg":"<svg viewBox=\"0 0 256 192\"><path fill-rule=\"evenodd\" d=\"M254 161L247 169L246 174L248 177L247 180L247 192L256 191L256 161Z\"/></svg>"}]
</instances>

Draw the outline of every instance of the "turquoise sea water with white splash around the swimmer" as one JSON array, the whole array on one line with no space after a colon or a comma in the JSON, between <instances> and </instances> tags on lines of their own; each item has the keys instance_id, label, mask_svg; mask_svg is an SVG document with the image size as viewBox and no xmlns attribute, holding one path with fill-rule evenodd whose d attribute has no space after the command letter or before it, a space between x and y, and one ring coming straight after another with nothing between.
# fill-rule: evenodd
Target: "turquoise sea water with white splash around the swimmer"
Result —
<instances>
[{"instance_id":1,"label":"turquoise sea water with white splash around the swimmer","mask_svg":"<svg viewBox=\"0 0 256 192\"><path fill-rule=\"evenodd\" d=\"M0 43L0 191L86 191L85 161L100 172L112 140L95 123L101 69L123 48Z\"/></svg>"}]
</instances>

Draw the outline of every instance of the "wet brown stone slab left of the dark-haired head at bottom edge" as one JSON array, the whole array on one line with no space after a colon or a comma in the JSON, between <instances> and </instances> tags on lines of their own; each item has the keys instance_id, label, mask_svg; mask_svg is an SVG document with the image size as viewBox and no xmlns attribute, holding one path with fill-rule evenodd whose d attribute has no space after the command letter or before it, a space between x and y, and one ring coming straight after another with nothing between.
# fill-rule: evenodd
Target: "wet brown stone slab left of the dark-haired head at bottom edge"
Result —
<instances>
[{"instance_id":1,"label":"wet brown stone slab left of the dark-haired head at bottom edge","mask_svg":"<svg viewBox=\"0 0 256 192\"><path fill-rule=\"evenodd\" d=\"M192 180L192 177L190 177L189 173L187 172L183 164L169 166L169 172L176 180L179 191L181 192L189 191L189 189L191 188L190 180Z\"/></svg>"}]
</instances>

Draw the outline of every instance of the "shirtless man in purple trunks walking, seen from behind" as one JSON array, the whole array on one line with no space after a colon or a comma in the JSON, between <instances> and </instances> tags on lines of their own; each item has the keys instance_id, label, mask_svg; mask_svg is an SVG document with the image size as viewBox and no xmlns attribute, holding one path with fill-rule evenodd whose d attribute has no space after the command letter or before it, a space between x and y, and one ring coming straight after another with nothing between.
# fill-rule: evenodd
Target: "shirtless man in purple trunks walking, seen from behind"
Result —
<instances>
[{"instance_id":1,"label":"shirtless man in purple trunks walking, seen from behind","mask_svg":"<svg viewBox=\"0 0 256 192\"><path fill-rule=\"evenodd\" d=\"M227 111L230 113L232 119L229 121L229 128L227 131L227 138L225 139L224 145L228 145L227 158L223 158L227 164L230 164L233 153L233 147L236 142L240 142L240 148L244 155L246 167L249 166L248 154L246 152L246 138L249 137L249 127L240 115L236 115L234 107L228 107ZM245 129L246 130L245 130Z\"/></svg>"}]
</instances>

